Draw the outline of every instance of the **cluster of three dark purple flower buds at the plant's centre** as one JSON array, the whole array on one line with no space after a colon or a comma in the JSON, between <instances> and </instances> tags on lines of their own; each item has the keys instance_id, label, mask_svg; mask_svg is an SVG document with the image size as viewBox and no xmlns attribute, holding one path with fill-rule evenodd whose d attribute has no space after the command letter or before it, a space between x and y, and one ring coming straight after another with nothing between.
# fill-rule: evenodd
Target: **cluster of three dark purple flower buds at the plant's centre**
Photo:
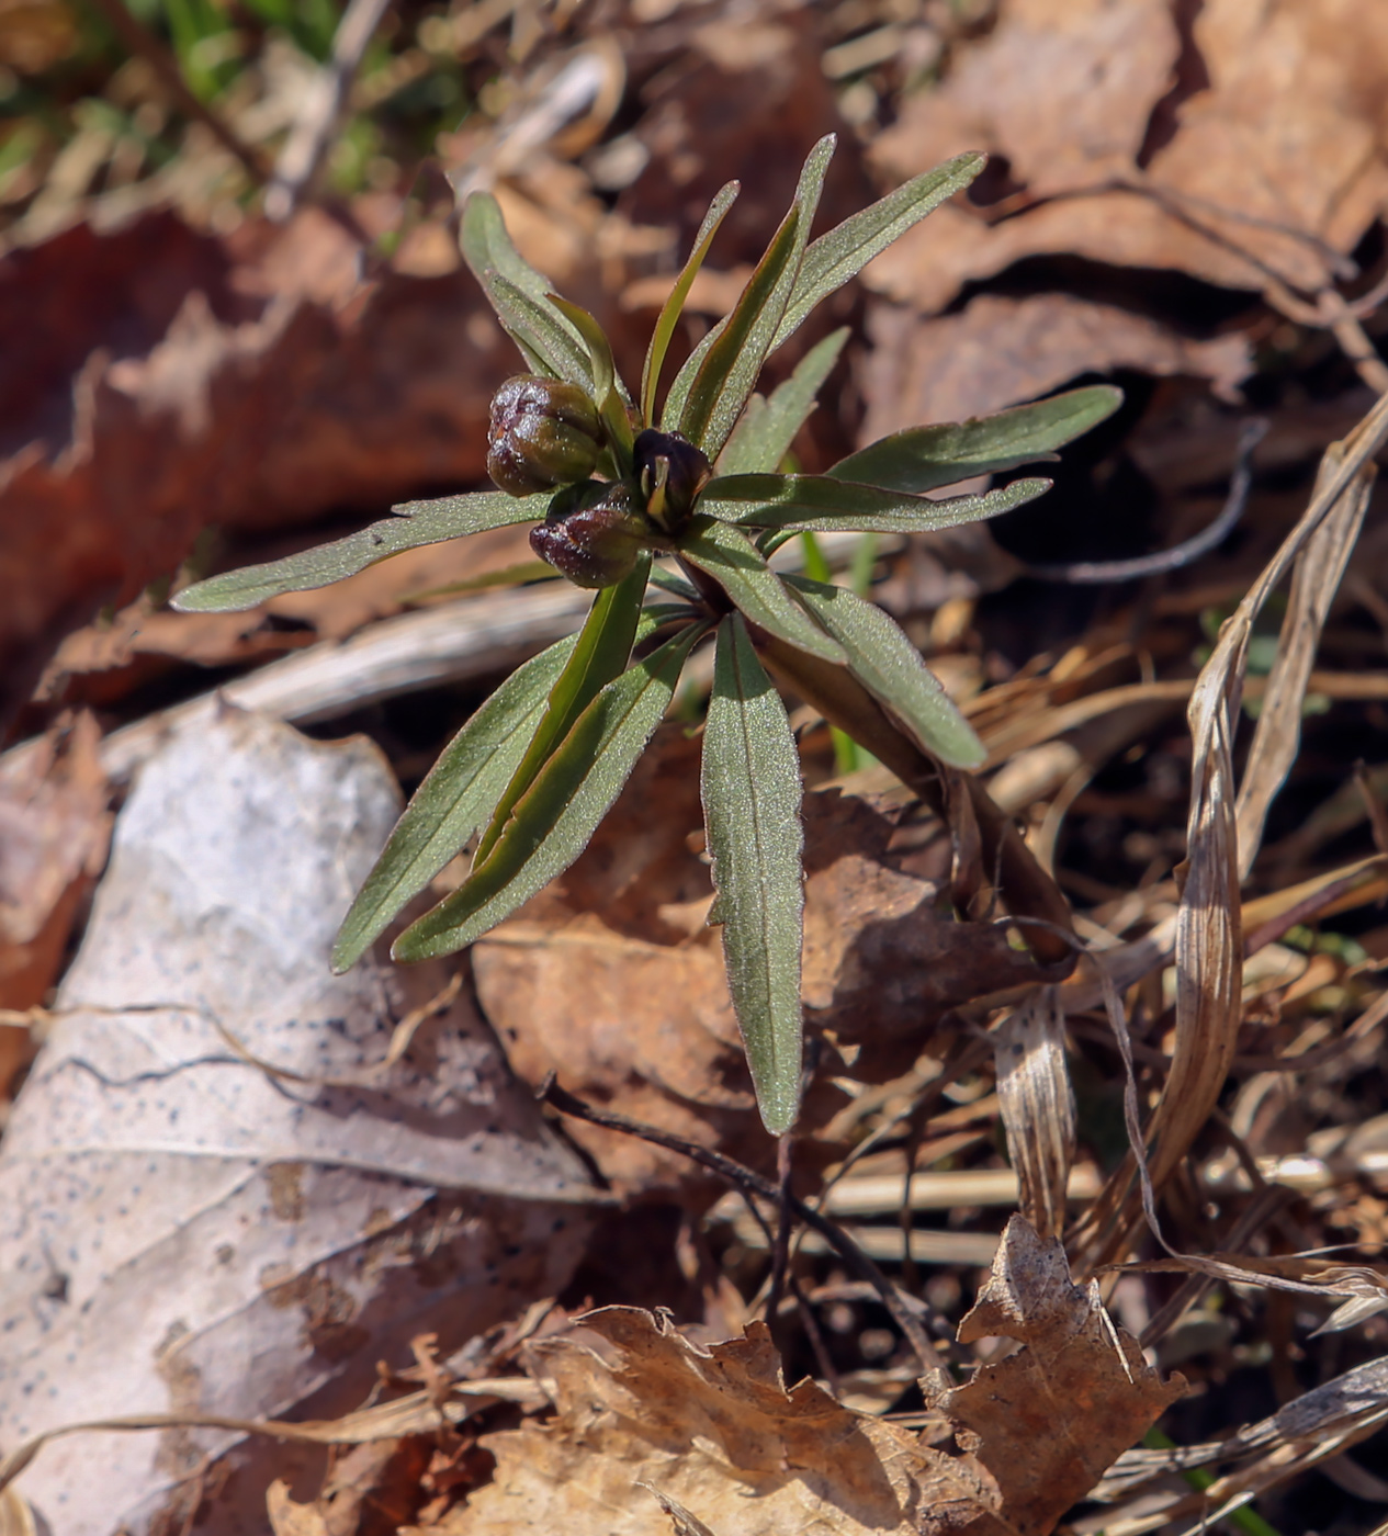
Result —
<instances>
[{"instance_id":1,"label":"cluster of three dark purple flower buds at the plant's centre","mask_svg":"<svg viewBox=\"0 0 1388 1536\"><path fill-rule=\"evenodd\" d=\"M611 587L640 550L669 548L712 475L692 442L648 429L631 478L596 481L603 445L597 407L576 384L520 375L491 401L487 470L511 496L560 487L530 544L579 587Z\"/></svg>"}]
</instances>

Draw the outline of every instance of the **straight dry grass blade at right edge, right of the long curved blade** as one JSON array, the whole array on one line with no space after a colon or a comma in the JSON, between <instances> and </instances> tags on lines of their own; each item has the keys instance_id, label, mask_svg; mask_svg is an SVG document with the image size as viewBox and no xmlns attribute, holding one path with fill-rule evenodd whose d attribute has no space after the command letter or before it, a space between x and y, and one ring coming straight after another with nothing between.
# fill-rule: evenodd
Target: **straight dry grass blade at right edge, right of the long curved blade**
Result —
<instances>
[{"instance_id":1,"label":"straight dry grass blade at right edge, right of the long curved blade","mask_svg":"<svg viewBox=\"0 0 1388 1536\"><path fill-rule=\"evenodd\" d=\"M1334 450L1327 453L1316 482L1317 490L1334 473L1337 461L1339 455ZM1239 877L1244 880L1248 879L1248 871L1257 857L1273 796L1282 788L1296 760L1311 662L1316 659L1320 631L1325 628L1350 553L1363 527L1373 482L1374 468L1365 465L1296 558L1291 598L1277 641L1277 657L1268 676L1262 713L1257 717L1257 730L1248 750L1248 763L1234 808Z\"/></svg>"}]
</instances>

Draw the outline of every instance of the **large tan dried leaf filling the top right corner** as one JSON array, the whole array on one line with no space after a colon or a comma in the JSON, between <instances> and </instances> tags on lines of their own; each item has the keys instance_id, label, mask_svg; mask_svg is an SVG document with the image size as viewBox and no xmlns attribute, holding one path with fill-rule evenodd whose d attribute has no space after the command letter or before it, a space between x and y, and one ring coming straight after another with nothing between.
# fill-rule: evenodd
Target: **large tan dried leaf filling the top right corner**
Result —
<instances>
[{"instance_id":1,"label":"large tan dried leaf filling the top right corner","mask_svg":"<svg viewBox=\"0 0 1388 1536\"><path fill-rule=\"evenodd\" d=\"M1388 12L1356 0L1003 0L990 34L872 147L906 180L1001 157L1007 217L963 203L868 269L943 309L1024 257L1316 290L1388 207ZM1179 45L1179 46L1178 46ZM995 177L996 177L995 170Z\"/></svg>"}]
</instances>

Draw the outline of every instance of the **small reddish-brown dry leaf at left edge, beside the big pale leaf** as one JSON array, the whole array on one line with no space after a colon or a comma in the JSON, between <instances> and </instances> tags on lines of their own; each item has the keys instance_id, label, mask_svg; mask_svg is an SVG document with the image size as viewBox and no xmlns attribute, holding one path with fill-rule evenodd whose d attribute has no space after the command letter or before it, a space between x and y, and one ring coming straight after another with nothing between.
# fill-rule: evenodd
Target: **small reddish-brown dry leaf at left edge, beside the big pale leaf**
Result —
<instances>
[{"instance_id":1,"label":"small reddish-brown dry leaf at left edge, beside the big pale leaf","mask_svg":"<svg viewBox=\"0 0 1388 1536\"><path fill-rule=\"evenodd\" d=\"M106 862L100 734L83 714L34 751L0 759L0 1008L43 1001L77 909ZM0 1058L0 1091L8 1078Z\"/></svg>"}]
</instances>

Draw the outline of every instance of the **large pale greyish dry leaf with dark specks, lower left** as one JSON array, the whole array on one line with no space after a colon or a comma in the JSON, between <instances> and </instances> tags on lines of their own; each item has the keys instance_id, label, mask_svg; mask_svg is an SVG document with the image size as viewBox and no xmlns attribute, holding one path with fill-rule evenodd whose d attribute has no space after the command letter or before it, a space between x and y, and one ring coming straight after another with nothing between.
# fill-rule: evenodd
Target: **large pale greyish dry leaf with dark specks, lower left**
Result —
<instances>
[{"instance_id":1,"label":"large pale greyish dry leaf with dark specks, lower left","mask_svg":"<svg viewBox=\"0 0 1388 1536\"><path fill-rule=\"evenodd\" d=\"M465 997L388 1074L321 1086L359 1081L445 980L329 971L398 809L370 743L227 710L121 811L0 1154L0 1435L175 1422L106 1441L100 1481L83 1438L43 1450L20 1487L63 1536L181 1519L189 1475L223 1455L240 1475L201 1528L240 1528L298 1453L177 1415L353 1407L421 1329L456 1347L577 1263L590 1181Z\"/></svg>"}]
</instances>

